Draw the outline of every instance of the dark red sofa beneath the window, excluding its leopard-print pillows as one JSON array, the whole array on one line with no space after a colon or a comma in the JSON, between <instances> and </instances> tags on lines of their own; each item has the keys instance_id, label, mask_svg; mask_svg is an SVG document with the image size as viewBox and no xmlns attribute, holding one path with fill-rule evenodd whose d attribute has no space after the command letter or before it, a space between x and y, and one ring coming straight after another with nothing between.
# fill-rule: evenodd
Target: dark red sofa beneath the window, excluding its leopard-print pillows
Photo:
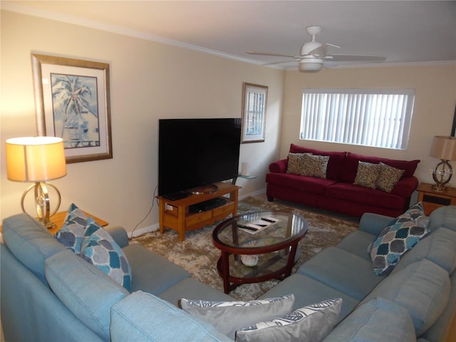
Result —
<instances>
[{"instance_id":1,"label":"dark red sofa beneath the window, excluding its leopard-print pillows","mask_svg":"<svg viewBox=\"0 0 456 342\"><path fill-rule=\"evenodd\" d=\"M266 195L312 207L361 217L365 212L397 217L410 206L410 197L418 186L413 174L420 160L390 160L351 152L325 152L291 144L291 153L328 156L326 179L286 173L288 158L269 165ZM358 162L383 162L404 173L391 192L353 185Z\"/></svg>"}]
</instances>

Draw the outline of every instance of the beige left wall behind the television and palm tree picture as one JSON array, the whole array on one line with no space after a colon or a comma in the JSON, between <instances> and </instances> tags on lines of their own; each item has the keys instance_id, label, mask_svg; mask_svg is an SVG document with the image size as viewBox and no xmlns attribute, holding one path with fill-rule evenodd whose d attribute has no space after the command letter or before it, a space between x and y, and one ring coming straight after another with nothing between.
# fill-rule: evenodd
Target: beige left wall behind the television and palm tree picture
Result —
<instances>
[{"instance_id":1,"label":"beige left wall behind the television and palm tree picture","mask_svg":"<svg viewBox=\"0 0 456 342\"><path fill-rule=\"evenodd\" d=\"M110 63L114 158L67 165L68 175L52 182L61 210L74 202L131 231L155 202L157 120L239 118L243 82L269 86L269 98L266 142L241 145L240 162L249 162L258 178L237 184L241 195L264 190L267 165L279 156L283 71L1 11L1 219L21 211L28 187L6 179L4 141L36 135L31 53ZM154 206L139 230L156 227Z\"/></svg>"}]
</instances>

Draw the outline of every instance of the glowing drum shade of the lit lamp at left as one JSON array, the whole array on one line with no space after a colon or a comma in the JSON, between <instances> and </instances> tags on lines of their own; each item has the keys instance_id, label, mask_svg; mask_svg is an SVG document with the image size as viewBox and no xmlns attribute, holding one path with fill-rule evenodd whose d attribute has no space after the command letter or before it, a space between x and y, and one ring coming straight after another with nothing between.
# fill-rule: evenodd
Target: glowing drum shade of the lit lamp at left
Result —
<instances>
[{"instance_id":1,"label":"glowing drum shade of the lit lamp at left","mask_svg":"<svg viewBox=\"0 0 456 342\"><path fill-rule=\"evenodd\" d=\"M46 182L66 175L63 140L26 137L6 140L6 172L17 182Z\"/></svg>"}]
</instances>

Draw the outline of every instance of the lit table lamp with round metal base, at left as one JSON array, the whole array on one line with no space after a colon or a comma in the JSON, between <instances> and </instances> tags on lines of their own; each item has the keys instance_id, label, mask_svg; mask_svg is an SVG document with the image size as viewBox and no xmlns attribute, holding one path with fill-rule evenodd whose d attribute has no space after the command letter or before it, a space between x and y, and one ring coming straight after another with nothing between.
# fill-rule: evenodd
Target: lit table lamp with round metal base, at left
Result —
<instances>
[{"instance_id":1,"label":"lit table lamp with round metal base, at left","mask_svg":"<svg viewBox=\"0 0 456 342\"><path fill-rule=\"evenodd\" d=\"M45 182L66 175L63 140L56 137L26 137L6 140L6 172L9 180L35 182L22 195L22 211L26 212L24 199L27 193L34 188L38 220L47 228L55 227L49 217L55 214L60 207L61 195L54 185ZM51 214L46 185L53 187L58 197L56 209Z\"/></svg>"}]
</instances>

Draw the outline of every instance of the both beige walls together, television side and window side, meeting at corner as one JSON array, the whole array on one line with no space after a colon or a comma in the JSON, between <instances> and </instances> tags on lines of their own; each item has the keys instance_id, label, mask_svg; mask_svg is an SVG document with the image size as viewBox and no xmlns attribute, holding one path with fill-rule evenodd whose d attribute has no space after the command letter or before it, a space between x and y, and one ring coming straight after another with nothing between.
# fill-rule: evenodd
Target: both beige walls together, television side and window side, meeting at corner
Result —
<instances>
[{"instance_id":1,"label":"both beige walls together, television side and window side, meeting at corner","mask_svg":"<svg viewBox=\"0 0 456 342\"><path fill-rule=\"evenodd\" d=\"M428 171L437 163L428 156L432 136L450 133L455 108L455 65L284 72L10 11L1 11L0 34L0 219L21 211L19 200L28 186L6 179L4 140L36 134L31 53L110 63L114 158L70 164L68 175L53 184L61 190L61 210L74 202L128 231L155 202L157 120L240 117L242 82L269 86L266 142L241 145L239 161L249 162L252 175L258 176L238 180L242 196L264 191L269 163L286 157L291 142L322 150L420 159L416 175L431 182ZM299 140L301 90L319 87L415 88L408 150ZM138 230L157 226L154 205Z\"/></svg>"}]
</instances>

